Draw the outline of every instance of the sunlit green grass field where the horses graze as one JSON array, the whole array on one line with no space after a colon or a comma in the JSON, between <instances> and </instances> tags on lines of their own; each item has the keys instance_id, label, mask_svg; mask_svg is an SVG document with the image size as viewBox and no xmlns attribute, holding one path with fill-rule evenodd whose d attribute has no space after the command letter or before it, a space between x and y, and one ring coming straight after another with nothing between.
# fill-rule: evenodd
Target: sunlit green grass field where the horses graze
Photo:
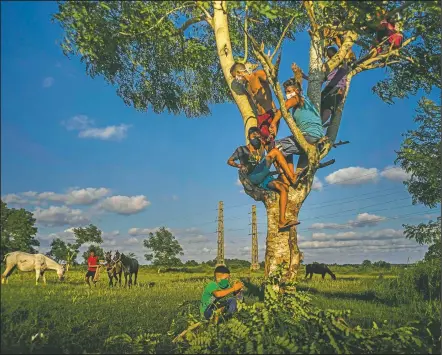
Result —
<instances>
[{"instance_id":1,"label":"sunlit green grass field where the horses graze","mask_svg":"<svg viewBox=\"0 0 442 355\"><path fill-rule=\"evenodd\" d=\"M380 291L395 292L385 287L399 272L396 268L372 272L332 269L335 281L329 276L322 280L320 275L303 280L301 269L298 289L309 292L320 308L350 310L352 325L371 327L373 322L387 321L388 326L398 327L409 321L425 322L428 312L434 312L431 302L397 304L379 297ZM34 285L33 273L14 272L1 289L2 353L100 353L108 337L123 333L172 337L167 333L181 305L186 301L197 305L203 286L211 279L210 269L199 271L158 274L142 268L139 285L132 289L109 288L105 274L96 287L89 288L81 267L69 271L63 283L55 273L48 273L46 287ZM233 279L251 277L246 282L246 303L262 298L258 289L262 276L262 272L232 270ZM149 287L150 282L155 285Z\"/></svg>"}]
</instances>

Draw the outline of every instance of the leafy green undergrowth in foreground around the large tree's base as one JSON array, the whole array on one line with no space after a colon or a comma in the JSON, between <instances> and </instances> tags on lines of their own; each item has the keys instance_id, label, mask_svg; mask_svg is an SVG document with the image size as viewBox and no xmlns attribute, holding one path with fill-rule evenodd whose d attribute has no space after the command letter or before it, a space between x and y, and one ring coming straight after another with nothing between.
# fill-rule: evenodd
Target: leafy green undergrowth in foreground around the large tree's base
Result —
<instances>
[{"instance_id":1,"label":"leafy green undergrowth in foreground around the large tree's base","mask_svg":"<svg viewBox=\"0 0 442 355\"><path fill-rule=\"evenodd\" d=\"M350 327L349 311L322 310L303 292L287 285L273 289L281 275L265 288L264 303L241 304L237 315L220 324L204 323L186 334L178 353L205 354L341 354L426 353L435 346L426 325L388 329ZM273 284L273 285L272 285ZM190 323L193 320L191 319Z\"/></svg>"}]
</instances>

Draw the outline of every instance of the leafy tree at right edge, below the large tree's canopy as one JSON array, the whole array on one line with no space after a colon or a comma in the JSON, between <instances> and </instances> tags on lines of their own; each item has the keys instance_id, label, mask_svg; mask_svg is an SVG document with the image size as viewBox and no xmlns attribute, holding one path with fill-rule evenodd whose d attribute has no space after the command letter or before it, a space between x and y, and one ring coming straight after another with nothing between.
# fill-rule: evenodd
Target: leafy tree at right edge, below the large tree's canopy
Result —
<instances>
[{"instance_id":1,"label":"leafy tree at right edge, below the large tree's canopy","mask_svg":"<svg viewBox=\"0 0 442 355\"><path fill-rule=\"evenodd\" d=\"M413 204L421 203L434 208L441 202L441 106L432 100L422 98L414 120L418 127L404 134L401 149L397 152L400 166L411 174L404 184L410 193ZM405 236L419 244L427 244L426 259L442 258L441 218L437 221L405 224Z\"/></svg>"}]
</instances>

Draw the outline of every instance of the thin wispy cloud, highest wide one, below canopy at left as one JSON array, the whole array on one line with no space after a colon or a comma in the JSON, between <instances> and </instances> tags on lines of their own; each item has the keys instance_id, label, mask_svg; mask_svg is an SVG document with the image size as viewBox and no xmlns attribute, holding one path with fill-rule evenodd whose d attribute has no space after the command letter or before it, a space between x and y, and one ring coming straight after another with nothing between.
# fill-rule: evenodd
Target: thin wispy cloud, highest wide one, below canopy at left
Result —
<instances>
[{"instance_id":1,"label":"thin wispy cloud, highest wide one, below canopy at left","mask_svg":"<svg viewBox=\"0 0 442 355\"><path fill-rule=\"evenodd\" d=\"M61 122L69 131L79 131L80 138L96 138L101 140L122 140L127 137L131 125L95 127L95 121L86 115L77 115Z\"/></svg>"}]
</instances>

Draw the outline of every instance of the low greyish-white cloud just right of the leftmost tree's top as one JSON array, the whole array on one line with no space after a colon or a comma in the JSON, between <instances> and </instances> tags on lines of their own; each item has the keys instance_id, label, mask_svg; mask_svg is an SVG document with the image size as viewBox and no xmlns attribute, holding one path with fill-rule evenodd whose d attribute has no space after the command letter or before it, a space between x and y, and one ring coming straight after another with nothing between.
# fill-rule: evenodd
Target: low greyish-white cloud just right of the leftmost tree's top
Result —
<instances>
[{"instance_id":1,"label":"low greyish-white cloud just right of the leftmost tree's top","mask_svg":"<svg viewBox=\"0 0 442 355\"><path fill-rule=\"evenodd\" d=\"M78 226L90 222L82 210L66 206L50 206L47 209L37 207L33 214L37 222L45 226Z\"/></svg>"}]
</instances>

